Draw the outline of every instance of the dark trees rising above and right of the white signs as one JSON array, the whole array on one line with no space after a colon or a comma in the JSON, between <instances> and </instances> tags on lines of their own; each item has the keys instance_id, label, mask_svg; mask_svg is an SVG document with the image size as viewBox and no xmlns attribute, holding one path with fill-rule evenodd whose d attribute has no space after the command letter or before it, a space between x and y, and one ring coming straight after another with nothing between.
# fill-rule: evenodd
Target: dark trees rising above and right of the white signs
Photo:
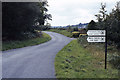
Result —
<instances>
[{"instance_id":1,"label":"dark trees rising above and right of the white signs","mask_svg":"<svg viewBox=\"0 0 120 80\"><path fill-rule=\"evenodd\" d=\"M108 44L114 43L120 48L120 2L117 2L110 13L107 13L106 4L101 3L100 11L95 16L97 22L92 20L88 24L88 30L106 30Z\"/></svg>"}]
</instances>

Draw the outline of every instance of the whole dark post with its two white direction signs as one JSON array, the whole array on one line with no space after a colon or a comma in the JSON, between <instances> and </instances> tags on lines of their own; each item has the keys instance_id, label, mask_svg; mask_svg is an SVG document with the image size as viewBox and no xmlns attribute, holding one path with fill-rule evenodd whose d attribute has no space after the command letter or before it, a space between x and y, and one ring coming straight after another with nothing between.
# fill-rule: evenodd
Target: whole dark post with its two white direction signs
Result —
<instances>
[{"instance_id":1,"label":"whole dark post with its two white direction signs","mask_svg":"<svg viewBox=\"0 0 120 80\"><path fill-rule=\"evenodd\" d=\"M105 30L88 30L88 42L105 42L105 69L107 68L107 32Z\"/></svg>"}]
</instances>

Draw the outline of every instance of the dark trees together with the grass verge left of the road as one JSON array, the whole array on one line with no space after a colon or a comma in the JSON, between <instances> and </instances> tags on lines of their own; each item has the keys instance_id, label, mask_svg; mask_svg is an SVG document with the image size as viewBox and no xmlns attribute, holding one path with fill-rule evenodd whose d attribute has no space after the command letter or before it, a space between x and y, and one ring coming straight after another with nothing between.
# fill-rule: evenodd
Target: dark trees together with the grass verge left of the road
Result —
<instances>
[{"instance_id":1,"label":"dark trees together with the grass verge left of the road","mask_svg":"<svg viewBox=\"0 0 120 80\"><path fill-rule=\"evenodd\" d=\"M52 20L48 14L48 2L2 3L2 50L37 45L50 40L42 33Z\"/></svg>"}]
</instances>

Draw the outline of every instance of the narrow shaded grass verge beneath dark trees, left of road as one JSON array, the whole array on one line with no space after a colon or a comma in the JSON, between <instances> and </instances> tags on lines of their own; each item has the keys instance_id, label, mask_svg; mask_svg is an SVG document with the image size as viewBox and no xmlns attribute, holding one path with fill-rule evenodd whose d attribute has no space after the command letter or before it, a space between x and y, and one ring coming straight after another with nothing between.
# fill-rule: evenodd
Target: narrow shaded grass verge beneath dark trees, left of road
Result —
<instances>
[{"instance_id":1,"label":"narrow shaded grass verge beneath dark trees, left of road","mask_svg":"<svg viewBox=\"0 0 120 80\"><path fill-rule=\"evenodd\" d=\"M48 34L43 33L43 36L38 37L38 38L28 39L28 40L24 40L24 41L3 42L2 50L4 51L4 50L9 50L9 49L22 48L22 47L26 47L26 46L33 46L33 45L47 42L49 40L51 40L51 37Z\"/></svg>"}]
</instances>

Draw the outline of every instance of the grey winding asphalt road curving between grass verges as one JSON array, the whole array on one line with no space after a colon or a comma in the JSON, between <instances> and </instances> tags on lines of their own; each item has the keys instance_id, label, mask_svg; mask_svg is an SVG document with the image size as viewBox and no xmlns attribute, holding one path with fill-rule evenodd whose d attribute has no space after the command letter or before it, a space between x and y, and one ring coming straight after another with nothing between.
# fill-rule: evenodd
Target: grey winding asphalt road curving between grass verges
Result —
<instances>
[{"instance_id":1,"label":"grey winding asphalt road curving between grass verges","mask_svg":"<svg viewBox=\"0 0 120 80\"><path fill-rule=\"evenodd\" d=\"M3 78L55 78L55 56L73 39L45 33L52 37L46 43L2 52Z\"/></svg>"}]
</instances>

